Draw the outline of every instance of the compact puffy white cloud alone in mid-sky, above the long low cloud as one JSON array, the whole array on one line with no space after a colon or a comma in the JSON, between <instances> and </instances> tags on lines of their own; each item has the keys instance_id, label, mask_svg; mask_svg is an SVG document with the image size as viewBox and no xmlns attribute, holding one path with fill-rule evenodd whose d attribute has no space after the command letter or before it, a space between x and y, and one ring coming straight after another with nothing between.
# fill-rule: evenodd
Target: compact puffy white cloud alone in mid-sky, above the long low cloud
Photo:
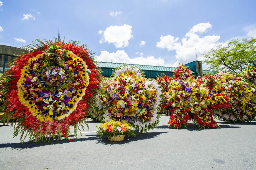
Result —
<instances>
[{"instance_id":1,"label":"compact puffy white cloud alone in mid-sky, above the long low cloud","mask_svg":"<svg viewBox=\"0 0 256 170\"><path fill-rule=\"evenodd\" d=\"M132 26L124 24L123 26L110 26L105 31L98 31L99 34L103 33L100 43L108 42L114 43L116 48L127 47L129 40L133 38Z\"/></svg>"}]
</instances>

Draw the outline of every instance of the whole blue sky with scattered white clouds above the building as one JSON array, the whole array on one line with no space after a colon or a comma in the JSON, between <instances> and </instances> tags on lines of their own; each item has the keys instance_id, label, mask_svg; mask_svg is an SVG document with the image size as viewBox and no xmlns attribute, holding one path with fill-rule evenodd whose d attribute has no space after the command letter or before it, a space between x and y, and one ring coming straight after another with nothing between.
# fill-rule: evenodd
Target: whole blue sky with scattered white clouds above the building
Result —
<instances>
[{"instance_id":1,"label":"whole blue sky with scattered white clouds above the building","mask_svg":"<svg viewBox=\"0 0 256 170\"><path fill-rule=\"evenodd\" d=\"M1 3L2 2L2 3ZM0 0L0 44L79 40L108 62L177 66L214 45L256 37L256 1ZM142 41L142 43L141 43Z\"/></svg>"}]
</instances>

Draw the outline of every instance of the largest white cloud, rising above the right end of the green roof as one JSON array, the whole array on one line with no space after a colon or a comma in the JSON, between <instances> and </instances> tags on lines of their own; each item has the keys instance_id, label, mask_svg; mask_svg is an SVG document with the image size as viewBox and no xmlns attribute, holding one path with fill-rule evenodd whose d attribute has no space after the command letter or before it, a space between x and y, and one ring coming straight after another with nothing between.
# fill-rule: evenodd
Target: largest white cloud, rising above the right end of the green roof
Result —
<instances>
[{"instance_id":1,"label":"largest white cloud, rising above the right end of the green roof","mask_svg":"<svg viewBox=\"0 0 256 170\"><path fill-rule=\"evenodd\" d=\"M212 49L220 39L219 35L206 35L199 36L197 33L205 33L207 29L212 28L212 25L207 23L200 23L186 33L185 37L181 40L175 38L172 35L161 35L160 41L156 44L156 47L166 48L168 51L176 50L176 62L172 65L178 66L179 63L189 63L196 60L195 49L197 50L197 60L203 61L203 54Z\"/></svg>"}]
</instances>

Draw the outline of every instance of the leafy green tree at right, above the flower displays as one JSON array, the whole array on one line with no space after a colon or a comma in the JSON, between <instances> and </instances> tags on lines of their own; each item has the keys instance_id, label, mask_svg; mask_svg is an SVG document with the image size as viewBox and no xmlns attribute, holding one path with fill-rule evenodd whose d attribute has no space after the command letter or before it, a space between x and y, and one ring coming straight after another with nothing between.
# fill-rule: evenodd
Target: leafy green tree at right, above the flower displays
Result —
<instances>
[{"instance_id":1,"label":"leafy green tree at right, above the flower displays","mask_svg":"<svg viewBox=\"0 0 256 170\"><path fill-rule=\"evenodd\" d=\"M214 71L237 73L247 67L256 67L256 39L232 39L220 43L205 55L205 63Z\"/></svg>"}]
</instances>

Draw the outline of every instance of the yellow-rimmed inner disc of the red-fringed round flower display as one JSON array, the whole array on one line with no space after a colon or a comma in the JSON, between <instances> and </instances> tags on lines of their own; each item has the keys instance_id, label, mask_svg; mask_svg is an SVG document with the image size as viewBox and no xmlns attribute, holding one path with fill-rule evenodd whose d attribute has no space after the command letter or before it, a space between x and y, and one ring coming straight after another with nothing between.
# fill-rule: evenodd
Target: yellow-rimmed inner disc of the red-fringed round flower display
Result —
<instances>
[{"instance_id":1,"label":"yellow-rimmed inner disc of the red-fringed round flower display","mask_svg":"<svg viewBox=\"0 0 256 170\"><path fill-rule=\"evenodd\" d=\"M28 60L18 81L20 102L40 121L69 116L89 84L87 65L73 52L54 48Z\"/></svg>"}]
</instances>

